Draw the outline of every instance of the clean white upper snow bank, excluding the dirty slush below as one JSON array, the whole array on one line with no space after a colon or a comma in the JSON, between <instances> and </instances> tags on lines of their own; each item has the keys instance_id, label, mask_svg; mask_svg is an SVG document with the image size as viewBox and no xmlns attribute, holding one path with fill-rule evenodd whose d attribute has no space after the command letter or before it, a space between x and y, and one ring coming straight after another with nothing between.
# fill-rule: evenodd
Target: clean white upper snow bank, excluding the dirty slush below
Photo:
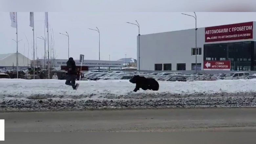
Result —
<instances>
[{"instance_id":1,"label":"clean white upper snow bank, excluding the dirty slush below","mask_svg":"<svg viewBox=\"0 0 256 144\"><path fill-rule=\"evenodd\" d=\"M133 92L135 84L128 80L113 81L77 81L80 83L77 91L65 85L64 80L24 80L0 79L0 99L14 97L26 99L83 99L83 98L125 98L143 95L185 95L185 94L216 94L255 92L256 79L251 80L221 80L170 82L159 81L159 91L139 90Z\"/></svg>"}]
</instances>

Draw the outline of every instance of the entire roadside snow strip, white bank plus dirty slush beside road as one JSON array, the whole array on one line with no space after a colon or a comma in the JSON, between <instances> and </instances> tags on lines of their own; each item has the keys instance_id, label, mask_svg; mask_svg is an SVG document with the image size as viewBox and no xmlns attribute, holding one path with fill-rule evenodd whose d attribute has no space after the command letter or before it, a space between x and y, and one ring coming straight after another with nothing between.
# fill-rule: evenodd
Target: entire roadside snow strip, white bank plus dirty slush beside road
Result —
<instances>
[{"instance_id":1,"label":"entire roadside snow strip, white bank plus dirty slush beside road","mask_svg":"<svg viewBox=\"0 0 256 144\"><path fill-rule=\"evenodd\" d=\"M0 79L0 83L0 110L6 111L256 106L255 79L159 81L159 91L138 92L128 80L79 81L77 91L63 80Z\"/></svg>"}]
</instances>

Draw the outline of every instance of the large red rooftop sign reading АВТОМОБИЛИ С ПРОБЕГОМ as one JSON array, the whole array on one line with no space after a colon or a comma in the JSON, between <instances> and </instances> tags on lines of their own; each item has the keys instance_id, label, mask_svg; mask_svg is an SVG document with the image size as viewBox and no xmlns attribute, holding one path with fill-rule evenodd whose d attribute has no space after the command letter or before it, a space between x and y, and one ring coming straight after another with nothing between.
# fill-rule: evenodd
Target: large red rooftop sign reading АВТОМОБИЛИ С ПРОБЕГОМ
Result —
<instances>
[{"instance_id":1,"label":"large red rooftop sign reading \u0410\u0412\u0422\u041e\u041c\u041e\u0411\u0418\u041b\u0418 \u0421 \u041f\u0420\u041e\u0411\u0415\u0413\u041e\u041c","mask_svg":"<svg viewBox=\"0 0 256 144\"><path fill-rule=\"evenodd\" d=\"M205 42L244 40L253 38L253 22L205 27Z\"/></svg>"}]
</instances>

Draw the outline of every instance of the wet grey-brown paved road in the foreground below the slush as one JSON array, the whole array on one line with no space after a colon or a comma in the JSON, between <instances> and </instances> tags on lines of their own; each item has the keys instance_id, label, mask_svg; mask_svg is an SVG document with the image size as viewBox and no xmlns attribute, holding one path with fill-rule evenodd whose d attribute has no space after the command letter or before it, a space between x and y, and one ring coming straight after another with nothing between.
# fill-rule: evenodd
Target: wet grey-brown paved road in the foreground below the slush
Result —
<instances>
[{"instance_id":1,"label":"wet grey-brown paved road in the foreground below the slush","mask_svg":"<svg viewBox=\"0 0 256 144\"><path fill-rule=\"evenodd\" d=\"M256 108L0 113L0 117L6 132L256 132Z\"/></svg>"}]
</instances>

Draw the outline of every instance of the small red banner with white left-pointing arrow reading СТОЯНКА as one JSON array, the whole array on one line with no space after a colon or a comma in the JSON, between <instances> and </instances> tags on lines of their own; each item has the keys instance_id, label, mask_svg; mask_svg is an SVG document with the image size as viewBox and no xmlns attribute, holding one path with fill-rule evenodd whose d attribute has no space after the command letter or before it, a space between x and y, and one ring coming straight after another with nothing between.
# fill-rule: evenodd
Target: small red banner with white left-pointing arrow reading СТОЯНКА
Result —
<instances>
[{"instance_id":1,"label":"small red banner with white left-pointing arrow reading \u0421\u0422\u041e\u042f\u041d\u041a\u0410","mask_svg":"<svg viewBox=\"0 0 256 144\"><path fill-rule=\"evenodd\" d=\"M230 61L203 61L203 70L230 70Z\"/></svg>"}]
</instances>

